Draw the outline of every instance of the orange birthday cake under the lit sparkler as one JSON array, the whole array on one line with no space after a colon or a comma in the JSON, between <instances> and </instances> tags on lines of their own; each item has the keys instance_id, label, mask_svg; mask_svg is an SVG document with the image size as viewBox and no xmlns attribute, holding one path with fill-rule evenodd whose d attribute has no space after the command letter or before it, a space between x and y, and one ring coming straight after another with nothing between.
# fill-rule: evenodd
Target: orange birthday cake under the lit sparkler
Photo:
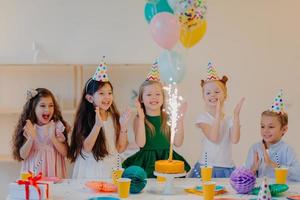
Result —
<instances>
[{"instance_id":1,"label":"orange birthday cake under the lit sparkler","mask_svg":"<svg viewBox=\"0 0 300 200\"><path fill-rule=\"evenodd\" d=\"M155 171L165 174L184 173L184 162L181 160L158 160L155 162Z\"/></svg>"}]
</instances>

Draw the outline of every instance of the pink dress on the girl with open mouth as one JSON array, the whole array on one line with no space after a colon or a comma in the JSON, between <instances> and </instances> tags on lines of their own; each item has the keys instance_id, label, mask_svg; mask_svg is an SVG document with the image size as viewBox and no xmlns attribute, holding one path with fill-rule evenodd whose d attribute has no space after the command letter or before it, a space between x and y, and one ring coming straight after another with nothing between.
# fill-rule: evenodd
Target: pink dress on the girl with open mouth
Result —
<instances>
[{"instance_id":1,"label":"pink dress on the girl with open mouth","mask_svg":"<svg viewBox=\"0 0 300 200\"><path fill-rule=\"evenodd\" d=\"M65 137L62 134L65 127L59 121L55 123L55 134L59 141L64 141ZM21 172L28 170L33 173L42 172L45 177L59 177L66 178L66 161L54 147L50 133L51 128L49 124L38 126L36 125L37 137L33 141L29 156L22 162Z\"/></svg>"}]
</instances>

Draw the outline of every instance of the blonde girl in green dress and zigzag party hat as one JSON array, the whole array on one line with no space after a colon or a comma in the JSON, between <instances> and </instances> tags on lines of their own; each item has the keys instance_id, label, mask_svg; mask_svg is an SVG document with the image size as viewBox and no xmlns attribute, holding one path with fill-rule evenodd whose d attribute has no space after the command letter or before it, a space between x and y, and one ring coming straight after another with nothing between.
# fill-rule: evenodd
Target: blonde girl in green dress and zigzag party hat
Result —
<instances>
[{"instance_id":1,"label":"blonde girl in green dress and zigzag party hat","mask_svg":"<svg viewBox=\"0 0 300 200\"><path fill-rule=\"evenodd\" d=\"M152 72L152 73L151 73ZM166 160L169 157L170 149L170 128L167 125L167 114L163 111L164 95L163 87L159 82L156 66L152 66L152 71L148 75L139 90L136 102L137 116L134 119L133 129L135 141L140 147L133 156L124 161L123 167L138 165L142 167L148 178L155 177L153 174L156 160ZM183 104L181 113L184 114L186 105ZM179 147L183 143L183 117L178 121L178 131L175 135L174 145ZM175 151L174 160L185 162L185 170L189 171L190 166Z\"/></svg>"}]
</instances>

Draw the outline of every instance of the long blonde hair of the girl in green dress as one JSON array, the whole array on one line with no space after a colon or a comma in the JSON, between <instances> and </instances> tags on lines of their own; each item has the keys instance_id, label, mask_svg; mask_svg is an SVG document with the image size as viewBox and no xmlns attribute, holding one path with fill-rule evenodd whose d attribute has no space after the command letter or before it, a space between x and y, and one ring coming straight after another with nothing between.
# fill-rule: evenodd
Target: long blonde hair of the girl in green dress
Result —
<instances>
[{"instance_id":1,"label":"long blonde hair of the girl in green dress","mask_svg":"<svg viewBox=\"0 0 300 200\"><path fill-rule=\"evenodd\" d=\"M142 83L142 85L140 86L139 96L138 96L138 100L139 100L139 102L141 102L141 107L142 107L144 113L146 113L146 108L145 108L145 105L143 103L143 94L144 94L145 87L149 86L149 85L154 85L154 84L158 84L160 86L162 94L163 94L163 101L165 100L163 85L160 82L151 81L151 80L144 81ZM161 118L162 118L162 123L161 123L160 129L161 129L161 132L163 132L163 134L165 134L165 136L167 138L169 138L170 137L170 128L167 124L168 115L167 115L167 113L164 112L164 107L165 107L165 102L163 102L163 105L160 108L160 113L161 113ZM154 128L153 124L149 120L147 120L146 118L144 120L145 120L146 127L148 127L150 129L150 133L152 135L154 135L155 134L155 128Z\"/></svg>"}]
</instances>

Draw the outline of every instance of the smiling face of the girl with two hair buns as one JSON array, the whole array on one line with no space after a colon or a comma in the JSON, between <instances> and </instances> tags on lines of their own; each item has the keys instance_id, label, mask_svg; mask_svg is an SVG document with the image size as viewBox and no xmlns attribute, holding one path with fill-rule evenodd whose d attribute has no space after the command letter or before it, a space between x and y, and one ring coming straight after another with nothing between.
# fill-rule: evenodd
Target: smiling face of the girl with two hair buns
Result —
<instances>
[{"instance_id":1,"label":"smiling face of the girl with two hair buns","mask_svg":"<svg viewBox=\"0 0 300 200\"><path fill-rule=\"evenodd\" d=\"M225 86L220 81L210 81L203 86L203 98L208 107L216 107L218 99L226 99Z\"/></svg>"}]
</instances>

